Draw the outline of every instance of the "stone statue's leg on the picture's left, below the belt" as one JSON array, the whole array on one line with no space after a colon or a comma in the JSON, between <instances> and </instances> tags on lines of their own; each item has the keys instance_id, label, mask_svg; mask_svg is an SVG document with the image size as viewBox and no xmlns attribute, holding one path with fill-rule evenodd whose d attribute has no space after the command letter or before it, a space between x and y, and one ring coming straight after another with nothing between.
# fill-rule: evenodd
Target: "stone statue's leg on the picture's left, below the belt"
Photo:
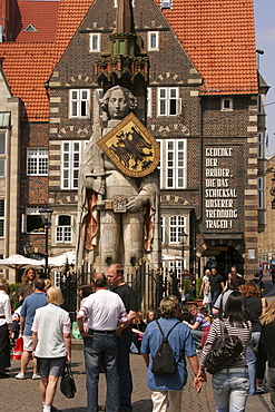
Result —
<instances>
[{"instance_id":1,"label":"stone statue's leg on the picture's left, below the belt","mask_svg":"<svg viewBox=\"0 0 275 412\"><path fill-rule=\"evenodd\" d=\"M112 210L100 213L100 255L101 265L109 266L118 262L118 247L120 237L120 214Z\"/></svg>"}]
</instances>

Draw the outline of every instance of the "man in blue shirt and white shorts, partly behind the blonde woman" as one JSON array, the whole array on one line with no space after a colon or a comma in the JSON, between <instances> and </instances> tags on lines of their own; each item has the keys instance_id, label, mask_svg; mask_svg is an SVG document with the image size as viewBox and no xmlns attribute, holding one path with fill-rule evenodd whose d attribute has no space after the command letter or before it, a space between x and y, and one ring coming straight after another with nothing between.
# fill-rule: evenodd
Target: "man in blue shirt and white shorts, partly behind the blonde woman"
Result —
<instances>
[{"instance_id":1,"label":"man in blue shirt and white shorts, partly behind the blonde woman","mask_svg":"<svg viewBox=\"0 0 275 412\"><path fill-rule=\"evenodd\" d=\"M31 326L36 310L47 305L47 297L43 293L45 282L43 279L35 278L33 281L33 293L27 296L23 301L22 308L20 312L20 334L23 335L23 354L21 357L21 370L16 375L16 379L26 379L24 372L32 354L32 332ZM40 379L37 373L37 362L33 359L33 373L32 379Z\"/></svg>"}]
</instances>

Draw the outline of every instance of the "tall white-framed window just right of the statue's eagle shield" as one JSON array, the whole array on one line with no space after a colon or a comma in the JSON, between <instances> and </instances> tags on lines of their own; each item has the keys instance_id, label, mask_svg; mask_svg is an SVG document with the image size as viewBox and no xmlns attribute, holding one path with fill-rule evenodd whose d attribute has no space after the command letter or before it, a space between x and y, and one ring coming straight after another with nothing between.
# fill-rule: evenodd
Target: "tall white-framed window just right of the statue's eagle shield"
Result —
<instances>
[{"instance_id":1,"label":"tall white-framed window just right of the statue's eagle shield","mask_svg":"<svg viewBox=\"0 0 275 412\"><path fill-rule=\"evenodd\" d=\"M166 140L165 188L186 187L186 139Z\"/></svg>"}]
</instances>

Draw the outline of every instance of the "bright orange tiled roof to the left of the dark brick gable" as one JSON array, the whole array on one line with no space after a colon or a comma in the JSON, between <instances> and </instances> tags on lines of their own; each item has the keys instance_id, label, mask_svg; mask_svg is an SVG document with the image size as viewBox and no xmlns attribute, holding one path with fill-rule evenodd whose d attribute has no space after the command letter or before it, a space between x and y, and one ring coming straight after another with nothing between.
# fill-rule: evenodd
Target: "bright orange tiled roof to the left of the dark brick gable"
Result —
<instances>
[{"instance_id":1,"label":"bright orange tiled roof to the left of the dark brick gable","mask_svg":"<svg viewBox=\"0 0 275 412\"><path fill-rule=\"evenodd\" d=\"M36 1L29 2L36 3ZM0 58L3 58L2 67L12 95L20 97L24 102L29 120L48 120L49 99L45 82L49 79L91 2L92 0L60 0L55 42L0 43ZM36 33L29 35L36 36Z\"/></svg>"}]
</instances>

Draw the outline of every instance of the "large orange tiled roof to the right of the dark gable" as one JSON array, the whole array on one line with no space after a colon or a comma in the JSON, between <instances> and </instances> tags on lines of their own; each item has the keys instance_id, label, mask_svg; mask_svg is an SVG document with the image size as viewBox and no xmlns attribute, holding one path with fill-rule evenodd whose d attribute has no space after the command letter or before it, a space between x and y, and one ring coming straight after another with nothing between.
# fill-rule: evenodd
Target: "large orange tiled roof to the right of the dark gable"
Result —
<instances>
[{"instance_id":1,"label":"large orange tiled roof to the right of the dark gable","mask_svg":"<svg viewBox=\"0 0 275 412\"><path fill-rule=\"evenodd\" d=\"M203 77L203 91L257 94L253 0L173 0L163 12Z\"/></svg>"}]
</instances>

